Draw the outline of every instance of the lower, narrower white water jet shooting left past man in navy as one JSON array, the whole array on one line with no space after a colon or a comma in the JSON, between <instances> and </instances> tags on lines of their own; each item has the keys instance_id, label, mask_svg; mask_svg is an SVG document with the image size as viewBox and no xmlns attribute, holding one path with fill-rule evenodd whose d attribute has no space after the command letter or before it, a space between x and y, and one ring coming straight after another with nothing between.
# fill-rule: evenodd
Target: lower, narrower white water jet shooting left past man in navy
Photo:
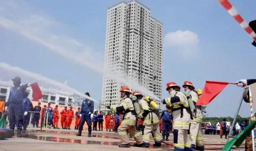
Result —
<instances>
[{"instance_id":1,"label":"lower, narrower white water jet shooting left past man in navy","mask_svg":"<svg viewBox=\"0 0 256 151\"><path fill-rule=\"evenodd\" d=\"M91 98L91 97L88 97L87 95L84 95L83 93L65 85L65 84L62 84L60 82L57 82L55 80L52 80L52 79L49 79L47 77L44 77L43 75L41 74L38 74L38 73L33 73L33 72L30 72L30 71L26 71L22 68L19 68L19 67L13 67L9 64L6 64L6 63L0 63L0 67L3 68L3 69L6 69L6 70L9 70L9 71L13 71L13 72L16 72L16 73L19 73L19 74L22 74L26 77L31 77L31 78L34 78L34 79L37 79L39 81L42 81L42 82L45 82L45 83L48 83L48 84L52 84L52 85L55 85L57 87L60 87L60 88L63 88L67 91L70 91L74 94L77 94L79 96L82 96L86 99L89 99L89 100L92 100L94 102L97 102L99 104L101 104L99 101L96 101L95 99ZM103 104L102 104L103 105Z\"/></svg>"}]
</instances>

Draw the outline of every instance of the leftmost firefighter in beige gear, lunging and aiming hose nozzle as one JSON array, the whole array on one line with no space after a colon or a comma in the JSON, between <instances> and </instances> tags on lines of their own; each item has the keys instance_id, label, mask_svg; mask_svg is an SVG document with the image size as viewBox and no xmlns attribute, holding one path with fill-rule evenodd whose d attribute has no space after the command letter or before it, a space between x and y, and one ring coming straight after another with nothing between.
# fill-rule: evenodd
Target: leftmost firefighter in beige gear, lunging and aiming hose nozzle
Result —
<instances>
[{"instance_id":1,"label":"leftmost firefighter in beige gear, lunging and aiming hose nozzle","mask_svg":"<svg viewBox=\"0 0 256 151\"><path fill-rule=\"evenodd\" d=\"M107 106L110 110L123 114L122 123L119 125L117 131L120 137L121 145L118 147L130 148L129 137L126 133L128 130L130 135L136 140L134 147L142 147L143 140L135 127L136 113L130 99L130 89L126 86L121 86L121 102L119 105Z\"/></svg>"}]
</instances>

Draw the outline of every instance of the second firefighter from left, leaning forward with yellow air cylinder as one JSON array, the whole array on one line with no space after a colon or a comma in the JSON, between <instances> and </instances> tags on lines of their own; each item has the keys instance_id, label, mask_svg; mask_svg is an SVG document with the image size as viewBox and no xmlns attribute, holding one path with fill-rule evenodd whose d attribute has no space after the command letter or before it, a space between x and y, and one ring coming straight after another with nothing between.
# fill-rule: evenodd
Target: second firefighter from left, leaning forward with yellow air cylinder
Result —
<instances>
[{"instance_id":1,"label":"second firefighter from left, leaning forward with yellow air cylinder","mask_svg":"<svg viewBox=\"0 0 256 151\"><path fill-rule=\"evenodd\" d=\"M135 91L132 95L138 98L140 105L138 118L142 119L143 125L145 125L144 135L142 135L143 146L150 146L150 134L152 134L155 140L155 144L153 146L161 147L161 134L158 116L153 112L151 105L143 99L143 95L140 92Z\"/></svg>"}]
</instances>

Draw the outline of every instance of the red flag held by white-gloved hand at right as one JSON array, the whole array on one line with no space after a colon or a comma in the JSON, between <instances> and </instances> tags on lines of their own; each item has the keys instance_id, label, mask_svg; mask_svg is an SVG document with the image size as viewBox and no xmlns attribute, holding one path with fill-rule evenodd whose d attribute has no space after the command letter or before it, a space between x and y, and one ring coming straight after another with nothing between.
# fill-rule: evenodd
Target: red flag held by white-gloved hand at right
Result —
<instances>
[{"instance_id":1,"label":"red flag held by white-gloved hand at right","mask_svg":"<svg viewBox=\"0 0 256 151\"><path fill-rule=\"evenodd\" d=\"M196 105L208 105L229 84L228 82L205 81L202 95Z\"/></svg>"}]
</instances>

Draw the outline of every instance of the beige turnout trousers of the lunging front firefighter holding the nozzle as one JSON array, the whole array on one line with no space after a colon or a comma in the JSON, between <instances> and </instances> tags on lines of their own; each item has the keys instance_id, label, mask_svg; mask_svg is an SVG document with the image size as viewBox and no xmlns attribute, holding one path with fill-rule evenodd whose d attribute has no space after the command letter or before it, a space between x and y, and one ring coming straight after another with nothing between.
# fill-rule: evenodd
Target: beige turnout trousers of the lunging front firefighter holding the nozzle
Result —
<instances>
[{"instance_id":1,"label":"beige turnout trousers of the lunging front firefighter holding the nozzle","mask_svg":"<svg viewBox=\"0 0 256 151\"><path fill-rule=\"evenodd\" d=\"M142 144L143 140L140 136L140 133L136 130L135 125L128 125L125 122L122 122L121 125L118 127L118 135L120 137L121 145L129 144L129 137L126 133L126 130L129 131L132 138L136 140L136 144Z\"/></svg>"}]
</instances>

